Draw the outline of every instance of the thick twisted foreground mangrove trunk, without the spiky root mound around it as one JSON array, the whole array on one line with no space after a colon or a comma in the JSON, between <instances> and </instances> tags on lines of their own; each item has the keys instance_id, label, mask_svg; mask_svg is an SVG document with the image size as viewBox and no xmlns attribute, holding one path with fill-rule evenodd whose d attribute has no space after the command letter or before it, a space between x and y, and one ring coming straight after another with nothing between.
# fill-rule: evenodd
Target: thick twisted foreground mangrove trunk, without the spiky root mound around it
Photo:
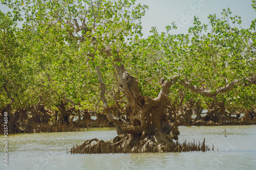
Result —
<instances>
[{"instance_id":1,"label":"thick twisted foreground mangrove trunk, without the spiky root mound around it","mask_svg":"<svg viewBox=\"0 0 256 170\"><path fill-rule=\"evenodd\" d=\"M116 62L120 63L121 59L117 58ZM119 135L116 142L121 142L122 147L127 148L130 152L135 150L136 147L142 149L145 144L159 145L157 149L159 152L163 151L161 149L163 145L173 145L173 139L178 140L179 124L176 124L176 122L169 123L164 112L169 88L173 82L162 81L162 88L157 98L152 99L140 94L136 78L131 76L123 65L116 64L115 68L119 75L119 85L124 90L127 100L124 114L126 114L130 122L126 122L123 118L113 115L104 96L105 84L103 83L99 67L97 67L97 71L105 113L108 119L115 124Z\"/></svg>"}]
</instances>

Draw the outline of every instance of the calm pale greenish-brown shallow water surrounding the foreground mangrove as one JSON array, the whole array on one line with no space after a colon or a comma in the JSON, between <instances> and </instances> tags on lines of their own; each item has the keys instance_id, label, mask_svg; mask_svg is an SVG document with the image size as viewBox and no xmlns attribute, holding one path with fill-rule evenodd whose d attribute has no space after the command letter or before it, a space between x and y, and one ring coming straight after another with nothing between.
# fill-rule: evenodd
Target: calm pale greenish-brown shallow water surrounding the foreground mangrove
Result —
<instances>
[{"instance_id":1,"label":"calm pale greenish-brown shallow water surrounding the foreground mangrove","mask_svg":"<svg viewBox=\"0 0 256 170\"><path fill-rule=\"evenodd\" d=\"M223 131L226 129L226 137ZM180 127L179 141L200 140L214 151L144 154L67 154L73 143L111 139L115 128L86 132L9 134L9 166L0 169L256 169L256 126ZM4 140L4 135L0 138ZM217 151L218 149L218 151Z\"/></svg>"}]
</instances>

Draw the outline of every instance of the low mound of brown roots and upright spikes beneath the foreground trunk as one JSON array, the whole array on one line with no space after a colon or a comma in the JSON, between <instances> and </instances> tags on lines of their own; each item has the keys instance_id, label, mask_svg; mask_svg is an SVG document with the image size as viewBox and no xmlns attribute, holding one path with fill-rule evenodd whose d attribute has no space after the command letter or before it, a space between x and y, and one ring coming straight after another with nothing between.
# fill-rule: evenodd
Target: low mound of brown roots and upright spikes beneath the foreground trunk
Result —
<instances>
[{"instance_id":1,"label":"low mound of brown roots and upright spikes beneath the foreground trunk","mask_svg":"<svg viewBox=\"0 0 256 170\"><path fill-rule=\"evenodd\" d=\"M129 145L129 135L119 135L113 140L91 139L84 141L83 144L71 148L71 154L108 154L108 153L150 153L150 152L190 152L190 151L209 151L210 147L205 145L205 140L200 142L173 142L166 140L163 144L154 142L149 137L138 141L132 147ZM96 141L92 144L93 141ZM212 145L212 150L214 145Z\"/></svg>"}]
</instances>

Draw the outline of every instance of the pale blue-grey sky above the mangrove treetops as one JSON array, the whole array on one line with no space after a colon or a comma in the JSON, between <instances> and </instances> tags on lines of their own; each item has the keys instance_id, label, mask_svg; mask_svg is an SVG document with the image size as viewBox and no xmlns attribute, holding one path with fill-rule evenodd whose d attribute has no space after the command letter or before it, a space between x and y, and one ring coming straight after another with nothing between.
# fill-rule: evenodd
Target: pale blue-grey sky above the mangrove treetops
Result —
<instances>
[{"instance_id":1,"label":"pale blue-grey sky above the mangrove treetops","mask_svg":"<svg viewBox=\"0 0 256 170\"><path fill-rule=\"evenodd\" d=\"M217 14L225 8L230 8L233 15L242 17L242 27L248 28L251 21L256 18L256 12L251 7L251 0L137 0L137 3L145 4L148 10L142 18L143 37L150 35L152 27L159 32L165 32L165 27L173 21L180 24L178 31L171 34L187 33L193 26L194 15L203 23L208 23L209 14ZM0 4L0 10L7 12L8 8Z\"/></svg>"}]
</instances>

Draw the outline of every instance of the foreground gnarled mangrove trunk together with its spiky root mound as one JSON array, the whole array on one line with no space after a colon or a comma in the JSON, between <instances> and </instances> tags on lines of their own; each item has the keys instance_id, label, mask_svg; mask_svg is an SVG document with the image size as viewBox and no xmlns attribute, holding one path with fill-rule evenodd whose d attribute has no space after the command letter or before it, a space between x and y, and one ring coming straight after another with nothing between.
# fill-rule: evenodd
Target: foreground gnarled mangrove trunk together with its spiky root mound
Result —
<instances>
[{"instance_id":1,"label":"foreground gnarled mangrove trunk together with its spiky root mound","mask_svg":"<svg viewBox=\"0 0 256 170\"><path fill-rule=\"evenodd\" d=\"M121 59L116 59L117 63ZM105 99L105 84L103 83L101 72L97 67L100 85L101 100L104 106L104 112L108 119L116 126L118 136L110 141L98 139L87 140L83 144L71 149L71 153L141 153L141 152L181 152L181 151L206 151L204 142L200 144L179 143L180 134L178 126L178 115L173 117L170 123L166 116L166 102L168 101L169 88L174 84L176 77L172 81L161 80L161 90L157 98L152 99L141 95L138 82L135 77L127 72L123 65L116 64L115 68L119 75L119 84L124 90L127 104L123 111L130 122L113 114L108 102ZM92 141L96 143L91 145Z\"/></svg>"}]
</instances>

